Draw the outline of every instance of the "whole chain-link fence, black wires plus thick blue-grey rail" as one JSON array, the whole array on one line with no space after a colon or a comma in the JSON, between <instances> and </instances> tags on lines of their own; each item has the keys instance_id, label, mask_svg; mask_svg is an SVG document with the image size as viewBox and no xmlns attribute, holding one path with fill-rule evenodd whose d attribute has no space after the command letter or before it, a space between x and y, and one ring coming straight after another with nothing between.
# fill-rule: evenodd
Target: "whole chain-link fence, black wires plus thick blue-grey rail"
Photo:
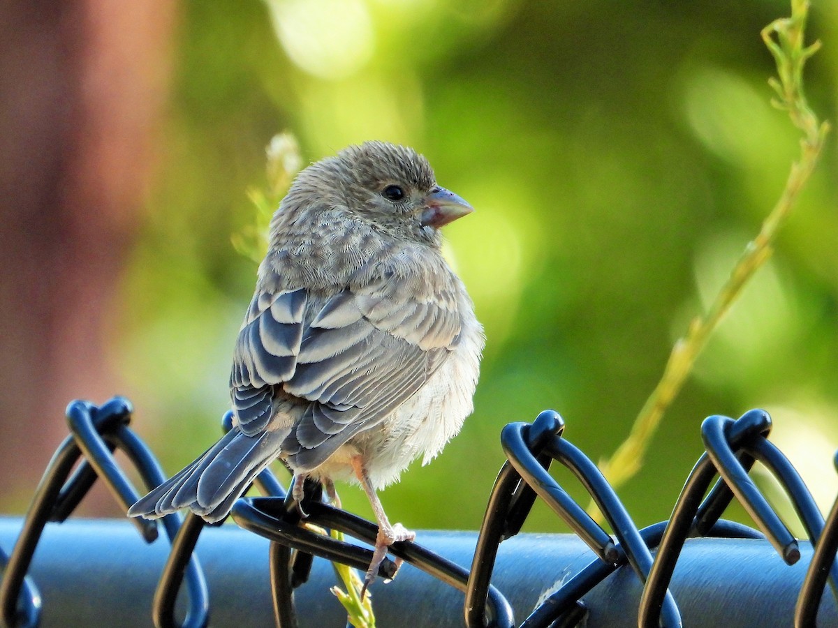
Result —
<instances>
[{"instance_id":1,"label":"whole chain-link fence, black wires plus thick blue-grey rail","mask_svg":"<svg viewBox=\"0 0 838 628\"><path fill-rule=\"evenodd\" d=\"M330 597L325 583L334 582L334 575L313 557L366 569L377 527L323 503L321 487L313 482L305 486L307 522L361 543L300 525L299 509L270 471L256 479L266 497L235 504L232 517L243 530L207 529L191 514L164 517L169 551L161 543L153 543L152 553L143 551L143 540L158 537L157 522L47 526L65 522L97 478L124 509L137 500L137 490L114 460L117 448L147 487L164 480L154 456L130 429L131 414L122 398L101 407L70 404L71 434L49 462L26 517L0 517L4 625L204 626L210 610L212 625L237 628L345 621L337 602L324 603ZM229 429L230 414L225 425ZM417 569L404 569L385 588L373 585L378 625L838 625L838 502L824 521L794 467L767 440L771 420L763 410L738 420L706 419L701 425L706 452L672 516L643 529L597 466L562 438L563 429L551 410L531 425L504 428L500 440L507 462L476 537L420 533L422 544L392 546L392 555ZM548 474L554 461L582 483L613 536ZM809 542L799 544L748 477L755 461L784 487ZM519 534L538 498L573 535ZM720 518L734 498L758 529ZM395 569L386 559L379 575L389 579ZM824 596L827 585L830 595Z\"/></svg>"}]
</instances>

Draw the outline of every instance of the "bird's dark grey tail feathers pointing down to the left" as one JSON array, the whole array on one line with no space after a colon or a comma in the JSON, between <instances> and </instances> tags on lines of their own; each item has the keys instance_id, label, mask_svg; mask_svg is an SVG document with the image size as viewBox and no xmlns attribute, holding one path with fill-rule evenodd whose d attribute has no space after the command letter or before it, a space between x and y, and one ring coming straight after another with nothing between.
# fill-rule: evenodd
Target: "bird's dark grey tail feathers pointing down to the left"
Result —
<instances>
[{"instance_id":1,"label":"bird's dark grey tail feathers pointing down to the left","mask_svg":"<svg viewBox=\"0 0 838 628\"><path fill-rule=\"evenodd\" d=\"M287 430L254 436L230 430L196 461L142 497L128 510L128 516L156 519L189 507L207 522L220 521L277 457L286 436Z\"/></svg>"}]
</instances>

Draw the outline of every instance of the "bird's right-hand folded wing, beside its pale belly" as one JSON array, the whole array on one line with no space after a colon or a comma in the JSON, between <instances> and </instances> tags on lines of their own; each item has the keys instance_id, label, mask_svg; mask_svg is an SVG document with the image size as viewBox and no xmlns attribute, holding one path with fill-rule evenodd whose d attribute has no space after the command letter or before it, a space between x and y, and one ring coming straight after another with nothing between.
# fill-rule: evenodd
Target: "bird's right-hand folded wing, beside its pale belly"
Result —
<instances>
[{"instance_id":1,"label":"bird's right-hand folded wing, beside its pale belly","mask_svg":"<svg viewBox=\"0 0 838 628\"><path fill-rule=\"evenodd\" d=\"M308 329L287 393L317 402L282 443L311 470L354 434L376 425L422 388L458 342L453 293L405 289L387 277L328 300Z\"/></svg>"}]
</instances>

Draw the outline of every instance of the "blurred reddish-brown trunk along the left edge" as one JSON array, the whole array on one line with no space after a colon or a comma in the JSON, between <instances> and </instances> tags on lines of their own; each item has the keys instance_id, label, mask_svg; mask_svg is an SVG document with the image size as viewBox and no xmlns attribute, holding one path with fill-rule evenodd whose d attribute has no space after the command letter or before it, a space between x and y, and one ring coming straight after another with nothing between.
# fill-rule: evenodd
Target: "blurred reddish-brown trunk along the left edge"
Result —
<instances>
[{"instance_id":1,"label":"blurred reddish-brown trunk along the left edge","mask_svg":"<svg viewBox=\"0 0 838 628\"><path fill-rule=\"evenodd\" d=\"M116 392L114 295L166 95L173 0L0 2L0 478L28 503L70 399Z\"/></svg>"}]
</instances>

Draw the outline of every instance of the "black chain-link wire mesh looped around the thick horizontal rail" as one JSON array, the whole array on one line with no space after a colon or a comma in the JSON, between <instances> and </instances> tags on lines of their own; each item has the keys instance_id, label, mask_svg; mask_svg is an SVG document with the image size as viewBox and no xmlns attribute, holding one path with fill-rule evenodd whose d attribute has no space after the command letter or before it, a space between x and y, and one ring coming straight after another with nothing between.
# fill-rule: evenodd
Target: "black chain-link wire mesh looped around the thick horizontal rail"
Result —
<instances>
[{"instance_id":1,"label":"black chain-link wire mesh looped around the thick horizontal rail","mask_svg":"<svg viewBox=\"0 0 838 628\"><path fill-rule=\"evenodd\" d=\"M72 435L49 462L8 559L0 550L0 617L4 625L39 623L41 600L27 571L47 522L65 521L100 477L121 507L127 508L137 500L137 492L114 459L115 450L127 455L147 486L157 486L165 480L151 452L129 429L131 414L131 404L119 397L101 407L83 401L68 406ZM222 423L229 430L232 414L225 414ZM623 565L629 565L644 583L637 609L639 625L681 625L678 606L667 588L686 539L714 535L763 538L752 528L720 518L734 497L786 563L793 564L800 557L796 539L748 476L753 464L760 461L779 480L815 548L794 610L796 626L815 626L827 583L838 599L838 501L824 522L799 474L767 440L770 429L771 419L763 410L752 410L736 421L723 416L706 419L701 427L706 453L691 471L670 520L639 530L597 466L563 438L561 416L546 410L531 425L510 424L501 433L507 461L489 495L471 569L417 543L394 543L389 553L462 591L464 619L469 628L511 628L515 619L510 603L491 584L499 543L520 532L535 500L542 499L587 543L592 557L561 588L531 610L521 628L558 628L584 622L589 612L584 598ZM76 466L77 461L80 462ZM603 512L616 541L549 475L553 461L566 466L582 483ZM838 465L838 459L835 463ZM707 492L716 475L718 479ZM281 628L296 628L294 589L308 580L313 557L365 570L372 558L370 546L375 543L378 528L375 522L323 503L323 488L316 481L306 482L302 504L293 501L292 492L271 471L262 471L255 484L267 497L240 499L231 514L242 528L270 539L274 620ZM147 542L156 538L156 522L133 522ZM346 540L314 532L313 526L339 530ZM191 514L185 520L178 515L163 517L163 529L172 548L151 605L158 628L203 628L209 623L209 594L194 555L203 528L204 522ZM659 543L653 559L651 549ZM391 579L395 574L396 562L385 559L380 565L380 577ZM178 623L175 601L184 579L189 607L183 623Z\"/></svg>"}]
</instances>

